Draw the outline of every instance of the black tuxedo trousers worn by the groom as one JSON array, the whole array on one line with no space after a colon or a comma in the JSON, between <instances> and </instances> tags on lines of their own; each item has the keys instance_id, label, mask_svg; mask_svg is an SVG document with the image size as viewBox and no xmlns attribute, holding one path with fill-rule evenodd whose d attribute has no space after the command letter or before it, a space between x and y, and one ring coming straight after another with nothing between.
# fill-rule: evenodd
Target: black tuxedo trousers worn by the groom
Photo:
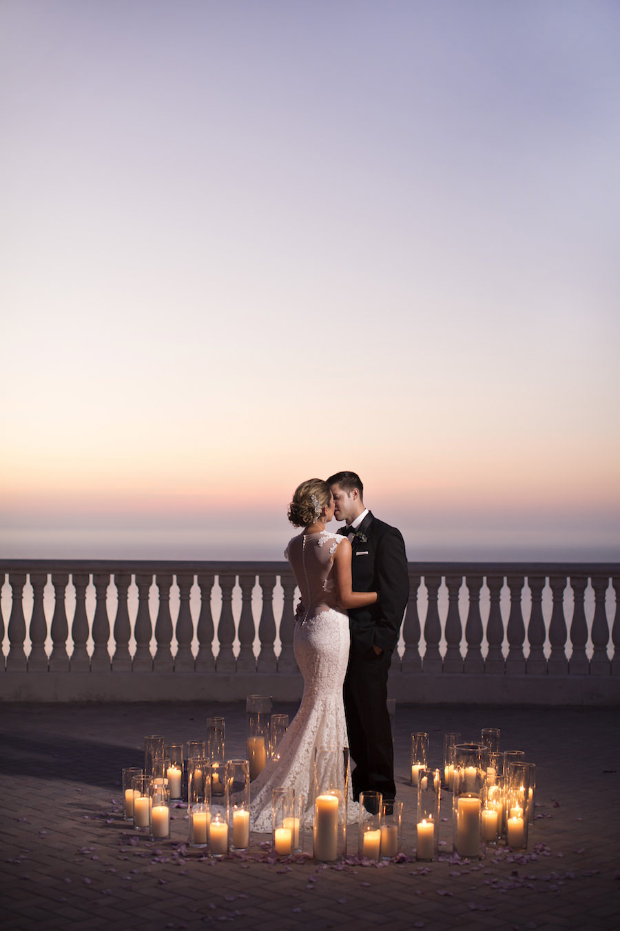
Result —
<instances>
[{"instance_id":1,"label":"black tuxedo trousers worn by the groom","mask_svg":"<svg viewBox=\"0 0 620 931\"><path fill-rule=\"evenodd\" d=\"M391 800L394 783L394 748L388 712L388 672L391 653L378 655L367 643L351 636L349 667L344 684L349 749L355 767L351 772L353 798L373 789Z\"/></svg>"}]
</instances>

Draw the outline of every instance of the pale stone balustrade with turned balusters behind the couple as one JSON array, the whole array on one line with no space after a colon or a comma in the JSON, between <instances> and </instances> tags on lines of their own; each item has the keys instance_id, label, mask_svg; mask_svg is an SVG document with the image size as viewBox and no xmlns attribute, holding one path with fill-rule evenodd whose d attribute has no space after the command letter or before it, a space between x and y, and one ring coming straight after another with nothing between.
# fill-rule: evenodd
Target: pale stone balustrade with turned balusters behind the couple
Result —
<instances>
[{"instance_id":1,"label":"pale stone balustrade with turned balusters behind the couple","mask_svg":"<svg viewBox=\"0 0 620 931\"><path fill-rule=\"evenodd\" d=\"M620 704L620 564L409 563L397 701ZM0 562L8 701L296 700L285 562Z\"/></svg>"}]
</instances>

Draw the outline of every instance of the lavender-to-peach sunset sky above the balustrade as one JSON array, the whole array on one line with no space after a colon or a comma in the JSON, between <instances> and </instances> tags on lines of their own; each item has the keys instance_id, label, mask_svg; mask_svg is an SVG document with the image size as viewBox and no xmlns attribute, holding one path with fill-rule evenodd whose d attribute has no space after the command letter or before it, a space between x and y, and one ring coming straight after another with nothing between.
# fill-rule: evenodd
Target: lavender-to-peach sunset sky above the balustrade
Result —
<instances>
[{"instance_id":1,"label":"lavender-to-peach sunset sky above the balustrade","mask_svg":"<svg viewBox=\"0 0 620 931\"><path fill-rule=\"evenodd\" d=\"M620 559L620 5L4 0L0 556ZM333 525L332 529L336 529Z\"/></svg>"}]
</instances>

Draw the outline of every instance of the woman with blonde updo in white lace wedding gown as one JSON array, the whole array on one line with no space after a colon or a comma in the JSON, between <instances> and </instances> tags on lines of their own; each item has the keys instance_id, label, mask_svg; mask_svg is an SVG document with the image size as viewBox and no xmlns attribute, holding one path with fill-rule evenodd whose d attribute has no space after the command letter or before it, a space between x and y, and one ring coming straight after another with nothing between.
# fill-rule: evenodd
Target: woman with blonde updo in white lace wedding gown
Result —
<instances>
[{"instance_id":1,"label":"woman with blonde updo in white lace wedding gown","mask_svg":"<svg viewBox=\"0 0 620 931\"><path fill-rule=\"evenodd\" d=\"M334 495L326 481L299 485L288 519L303 527L284 552L301 592L293 637L304 692L297 714L271 760L252 784L252 830L271 831L271 790L303 793L307 817L314 805L314 749L349 746L342 686L349 662L349 608L374 604L377 593L351 591L351 546L347 537L325 530L334 517Z\"/></svg>"}]
</instances>

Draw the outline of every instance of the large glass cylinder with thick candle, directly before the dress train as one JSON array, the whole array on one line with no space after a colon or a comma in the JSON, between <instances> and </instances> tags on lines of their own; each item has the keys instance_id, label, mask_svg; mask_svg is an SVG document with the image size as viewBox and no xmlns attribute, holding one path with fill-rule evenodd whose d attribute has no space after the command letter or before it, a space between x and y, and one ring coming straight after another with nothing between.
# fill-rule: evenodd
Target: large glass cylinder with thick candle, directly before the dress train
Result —
<instances>
[{"instance_id":1,"label":"large glass cylinder with thick candle, directly before the dress train","mask_svg":"<svg viewBox=\"0 0 620 931\"><path fill-rule=\"evenodd\" d=\"M349 749L317 747L314 750L314 858L330 863L347 850L347 794Z\"/></svg>"}]
</instances>

